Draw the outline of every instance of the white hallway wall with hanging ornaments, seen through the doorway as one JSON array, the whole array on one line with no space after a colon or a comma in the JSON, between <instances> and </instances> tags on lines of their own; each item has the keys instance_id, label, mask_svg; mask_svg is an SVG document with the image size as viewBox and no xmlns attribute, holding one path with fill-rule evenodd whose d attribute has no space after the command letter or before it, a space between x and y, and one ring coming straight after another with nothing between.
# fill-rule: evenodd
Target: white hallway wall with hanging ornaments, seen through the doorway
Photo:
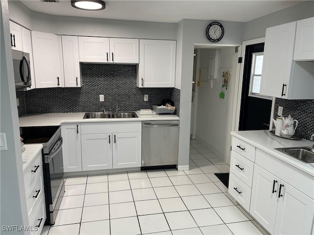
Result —
<instances>
[{"instance_id":1,"label":"white hallway wall with hanging ornaments, seen through the doorway","mask_svg":"<svg viewBox=\"0 0 314 235\"><path fill-rule=\"evenodd\" d=\"M200 68L208 67L209 56L215 54L214 49L201 49ZM219 153L227 163L230 158L230 132L232 127L233 104L235 98L235 72L237 66L235 47L224 47L219 50L219 80L214 80L212 89L210 82L201 82L198 88L198 109L196 120L196 139L204 141ZM228 71L230 82L228 90L223 90L225 98L219 98L222 86L222 72Z\"/></svg>"}]
</instances>

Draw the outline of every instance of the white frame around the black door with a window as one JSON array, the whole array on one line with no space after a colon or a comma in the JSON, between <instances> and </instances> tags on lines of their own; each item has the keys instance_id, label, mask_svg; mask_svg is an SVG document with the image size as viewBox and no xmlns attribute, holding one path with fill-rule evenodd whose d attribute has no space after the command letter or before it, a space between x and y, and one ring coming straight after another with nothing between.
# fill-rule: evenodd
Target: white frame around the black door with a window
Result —
<instances>
[{"instance_id":1,"label":"white frame around the black door with a window","mask_svg":"<svg viewBox=\"0 0 314 235\"><path fill-rule=\"evenodd\" d=\"M242 94L242 83L243 83L243 72L244 72L244 60L245 60L245 47L264 43L265 38L257 38L249 41L242 42L242 46L239 47L239 53L241 53L242 63L239 64L237 67L237 74L236 76L236 88L235 88L235 102L234 102L234 114L233 114L233 122L232 122L232 131L239 130L239 121L240 121L240 108L241 108L241 94ZM271 113L270 117L274 116L274 107L275 107L275 98L272 98L272 105L271 105ZM272 129L272 119L270 118L269 123L269 130Z\"/></svg>"}]
</instances>

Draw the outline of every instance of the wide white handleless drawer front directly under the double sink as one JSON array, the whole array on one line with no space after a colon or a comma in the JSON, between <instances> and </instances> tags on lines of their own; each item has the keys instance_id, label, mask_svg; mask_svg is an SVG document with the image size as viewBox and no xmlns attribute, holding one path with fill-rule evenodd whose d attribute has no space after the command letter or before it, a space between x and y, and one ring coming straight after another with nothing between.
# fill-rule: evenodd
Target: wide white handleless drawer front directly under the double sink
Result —
<instances>
[{"instance_id":1,"label":"wide white handleless drawer front directly under the double sink","mask_svg":"<svg viewBox=\"0 0 314 235\"><path fill-rule=\"evenodd\" d=\"M141 121L81 123L81 134L104 134L122 132L141 132Z\"/></svg>"}]
</instances>

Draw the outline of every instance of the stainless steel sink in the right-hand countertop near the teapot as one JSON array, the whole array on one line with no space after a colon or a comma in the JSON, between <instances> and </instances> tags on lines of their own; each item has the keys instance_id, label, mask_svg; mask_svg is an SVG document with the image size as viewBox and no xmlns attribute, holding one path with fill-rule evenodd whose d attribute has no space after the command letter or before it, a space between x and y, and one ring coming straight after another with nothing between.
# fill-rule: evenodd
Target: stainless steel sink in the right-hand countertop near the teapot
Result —
<instances>
[{"instance_id":1,"label":"stainless steel sink in the right-hand countertop near the teapot","mask_svg":"<svg viewBox=\"0 0 314 235\"><path fill-rule=\"evenodd\" d=\"M304 163L314 163L314 149L310 147L275 148Z\"/></svg>"}]
</instances>

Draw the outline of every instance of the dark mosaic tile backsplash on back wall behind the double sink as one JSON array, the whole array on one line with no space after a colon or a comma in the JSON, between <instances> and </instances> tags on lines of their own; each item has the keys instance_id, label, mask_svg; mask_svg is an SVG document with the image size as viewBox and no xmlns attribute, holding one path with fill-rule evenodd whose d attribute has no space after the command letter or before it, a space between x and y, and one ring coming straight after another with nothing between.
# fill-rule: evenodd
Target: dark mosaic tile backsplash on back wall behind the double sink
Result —
<instances>
[{"instance_id":1,"label":"dark mosaic tile backsplash on back wall behind the double sink","mask_svg":"<svg viewBox=\"0 0 314 235\"><path fill-rule=\"evenodd\" d=\"M135 111L151 109L162 98L171 98L179 116L180 90L136 87L136 65L80 64L80 88L45 88L24 92L25 113L101 112L102 109ZM99 101L104 94L105 102ZM148 100L144 101L144 94ZM19 94L22 96L22 94ZM21 101L20 101L21 103ZM20 105L21 106L21 105ZM24 110L19 109L19 116Z\"/></svg>"}]
</instances>

